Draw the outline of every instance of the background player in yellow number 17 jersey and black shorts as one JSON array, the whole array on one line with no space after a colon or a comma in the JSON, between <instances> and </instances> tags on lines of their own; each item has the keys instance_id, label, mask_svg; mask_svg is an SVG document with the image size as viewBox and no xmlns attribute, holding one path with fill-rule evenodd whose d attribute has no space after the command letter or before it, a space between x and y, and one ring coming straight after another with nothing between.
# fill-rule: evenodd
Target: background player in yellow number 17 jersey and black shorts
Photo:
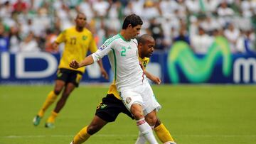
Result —
<instances>
[{"instance_id":1,"label":"background player in yellow number 17 jersey and black shorts","mask_svg":"<svg viewBox=\"0 0 256 144\"><path fill-rule=\"evenodd\" d=\"M35 118L33 118L33 124L38 126L43 117L46 109L53 104L53 102L57 99L57 96L62 92L62 96L58 100L55 109L51 112L48 120L46 121L46 128L53 128L54 121L56 116L68 99L68 96L71 92L78 87L80 79L82 79L82 74L85 72L85 67L81 67L79 69L73 69L69 67L69 62L71 60L83 60L87 54L87 51L96 52L97 45L93 38L92 33L85 28L86 25L86 17L84 13L78 13L75 18L75 26L72 28L68 28L60 35L53 43L53 47L58 49L58 45L60 43L65 43L65 48L63 51L63 55L60 59L60 64L58 65L57 78L55 80L55 87L53 91L51 91L46 101L43 103L43 106L38 111L38 114ZM99 61L100 70L102 72L102 76L107 79L107 72L102 66L102 61Z\"/></svg>"}]
</instances>

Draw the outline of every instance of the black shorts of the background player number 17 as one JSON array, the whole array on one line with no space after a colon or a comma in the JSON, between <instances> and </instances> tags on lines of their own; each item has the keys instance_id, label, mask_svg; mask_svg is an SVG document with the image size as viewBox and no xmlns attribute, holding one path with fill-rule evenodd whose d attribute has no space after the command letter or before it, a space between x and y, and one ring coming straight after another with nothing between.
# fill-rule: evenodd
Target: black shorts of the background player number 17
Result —
<instances>
[{"instance_id":1,"label":"black shorts of the background player number 17","mask_svg":"<svg viewBox=\"0 0 256 144\"><path fill-rule=\"evenodd\" d=\"M82 72L61 68L57 71L56 79L62 80L65 83L71 82L75 84L75 87L78 87L79 82L82 79Z\"/></svg>"}]
</instances>

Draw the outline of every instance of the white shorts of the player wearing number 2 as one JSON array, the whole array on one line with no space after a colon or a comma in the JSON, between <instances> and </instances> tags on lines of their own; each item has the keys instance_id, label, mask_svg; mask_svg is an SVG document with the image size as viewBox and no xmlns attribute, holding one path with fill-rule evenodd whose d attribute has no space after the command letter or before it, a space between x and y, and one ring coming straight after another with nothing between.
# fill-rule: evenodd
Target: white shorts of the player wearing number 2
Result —
<instances>
[{"instance_id":1,"label":"white shorts of the player wearing number 2","mask_svg":"<svg viewBox=\"0 0 256 144\"><path fill-rule=\"evenodd\" d=\"M119 95L124 103L124 106L130 111L132 104L142 105L144 116L151 111L159 111L160 104L156 101L156 97L149 85L149 82L137 87L123 87L119 89Z\"/></svg>"}]
</instances>

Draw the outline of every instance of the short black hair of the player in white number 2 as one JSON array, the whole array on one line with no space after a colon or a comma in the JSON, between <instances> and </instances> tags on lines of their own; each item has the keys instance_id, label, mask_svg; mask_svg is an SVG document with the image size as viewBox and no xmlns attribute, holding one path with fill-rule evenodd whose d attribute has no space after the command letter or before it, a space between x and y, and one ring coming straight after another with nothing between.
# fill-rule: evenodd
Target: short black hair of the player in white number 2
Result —
<instances>
[{"instance_id":1,"label":"short black hair of the player in white number 2","mask_svg":"<svg viewBox=\"0 0 256 144\"><path fill-rule=\"evenodd\" d=\"M124 18L124 23L122 25L122 29L126 29L129 24L131 24L132 28L133 28L135 26L142 25L143 21L142 21L142 18L140 18L138 15L133 13L133 14L127 16L126 18Z\"/></svg>"}]
</instances>

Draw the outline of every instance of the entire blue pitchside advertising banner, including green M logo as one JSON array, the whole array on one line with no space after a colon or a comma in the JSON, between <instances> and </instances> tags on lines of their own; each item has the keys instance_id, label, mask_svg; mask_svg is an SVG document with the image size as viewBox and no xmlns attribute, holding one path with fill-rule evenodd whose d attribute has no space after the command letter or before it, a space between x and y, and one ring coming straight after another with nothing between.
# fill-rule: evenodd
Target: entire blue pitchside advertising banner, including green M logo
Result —
<instances>
[{"instance_id":1,"label":"entire blue pitchside advertising banner, including green M logo","mask_svg":"<svg viewBox=\"0 0 256 144\"><path fill-rule=\"evenodd\" d=\"M0 53L0 84L52 83L58 69L60 55L47 52ZM87 66L82 82L112 82L110 62L103 65L110 74L101 76L97 63ZM225 38L216 38L206 55L196 55L189 45L174 43L169 52L154 52L147 71L161 78L165 84L212 83L255 84L256 54L231 54Z\"/></svg>"}]
</instances>

